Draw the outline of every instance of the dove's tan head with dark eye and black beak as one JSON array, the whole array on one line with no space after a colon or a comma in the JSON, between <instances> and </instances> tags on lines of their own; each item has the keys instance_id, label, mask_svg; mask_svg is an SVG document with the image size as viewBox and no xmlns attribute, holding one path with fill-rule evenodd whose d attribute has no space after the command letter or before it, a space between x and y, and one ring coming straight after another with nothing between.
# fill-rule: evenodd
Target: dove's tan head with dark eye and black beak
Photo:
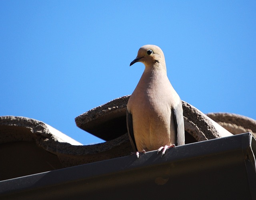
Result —
<instances>
[{"instance_id":1,"label":"dove's tan head with dark eye and black beak","mask_svg":"<svg viewBox=\"0 0 256 200\"><path fill-rule=\"evenodd\" d=\"M137 57L130 63L130 66L136 62L142 62L146 68L158 63L165 66L164 53L156 45L144 45L139 49Z\"/></svg>"}]
</instances>

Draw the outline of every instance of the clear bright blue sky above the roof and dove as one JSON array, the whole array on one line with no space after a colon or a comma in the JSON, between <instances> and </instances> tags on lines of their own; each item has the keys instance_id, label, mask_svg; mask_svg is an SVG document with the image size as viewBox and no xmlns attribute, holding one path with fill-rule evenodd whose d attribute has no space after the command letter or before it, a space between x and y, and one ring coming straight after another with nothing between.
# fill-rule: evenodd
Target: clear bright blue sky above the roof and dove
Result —
<instances>
[{"instance_id":1,"label":"clear bright blue sky above the roof and dove","mask_svg":"<svg viewBox=\"0 0 256 200\"><path fill-rule=\"evenodd\" d=\"M74 118L131 94L145 44L180 98L256 119L256 1L0 1L0 115L43 121L83 144Z\"/></svg>"}]
</instances>

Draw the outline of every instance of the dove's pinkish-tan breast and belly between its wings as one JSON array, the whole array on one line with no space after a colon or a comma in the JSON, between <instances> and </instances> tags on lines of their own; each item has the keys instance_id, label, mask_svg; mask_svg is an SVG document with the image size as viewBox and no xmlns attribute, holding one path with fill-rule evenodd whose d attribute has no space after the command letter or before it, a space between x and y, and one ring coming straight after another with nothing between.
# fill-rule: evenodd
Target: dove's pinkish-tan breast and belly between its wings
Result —
<instances>
[{"instance_id":1,"label":"dove's pinkish-tan breast and belly between its wings","mask_svg":"<svg viewBox=\"0 0 256 200\"><path fill-rule=\"evenodd\" d=\"M127 105L139 151L175 143L171 141L171 113L179 101L165 74L142 75Z\"/></svg>"}]
</instances>

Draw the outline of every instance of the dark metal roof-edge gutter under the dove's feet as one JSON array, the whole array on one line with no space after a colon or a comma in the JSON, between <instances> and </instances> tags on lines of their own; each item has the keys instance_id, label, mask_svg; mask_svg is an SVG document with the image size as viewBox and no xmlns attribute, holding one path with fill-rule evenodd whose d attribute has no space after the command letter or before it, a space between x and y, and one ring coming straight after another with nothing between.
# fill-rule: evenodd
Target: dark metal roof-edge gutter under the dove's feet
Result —
<instances>
[{"instance_id":1,"label":"dark metal roof-edge gutter under the dove's feet","mask_svg":"<svg viewBox=\"0 0 256 200\"><path fill-rule=\"evenodd\" d=\"M0 181L0 199L256 199L250 133Z\"/></svg>"}]
</instances>

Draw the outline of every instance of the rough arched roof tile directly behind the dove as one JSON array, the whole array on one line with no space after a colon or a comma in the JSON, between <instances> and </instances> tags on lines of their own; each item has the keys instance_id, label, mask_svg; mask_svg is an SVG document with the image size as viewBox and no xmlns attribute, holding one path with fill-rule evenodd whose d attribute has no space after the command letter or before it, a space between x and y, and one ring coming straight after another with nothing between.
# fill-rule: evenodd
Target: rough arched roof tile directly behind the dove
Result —
<instances>
[{"instance_id":1,"label":"rough arched roof tile directly behind the dove","mask_svg":"<svg viewBox=\"0 0 256 200\"><path fill-rule=\"evenodd\" d=\"M106 141L127 133L126 105L130 96L114 99L76 117L76 125ZM197 141L232 135L201 111L182 101L185 131Z\"/></svg>"}]
</instances>

